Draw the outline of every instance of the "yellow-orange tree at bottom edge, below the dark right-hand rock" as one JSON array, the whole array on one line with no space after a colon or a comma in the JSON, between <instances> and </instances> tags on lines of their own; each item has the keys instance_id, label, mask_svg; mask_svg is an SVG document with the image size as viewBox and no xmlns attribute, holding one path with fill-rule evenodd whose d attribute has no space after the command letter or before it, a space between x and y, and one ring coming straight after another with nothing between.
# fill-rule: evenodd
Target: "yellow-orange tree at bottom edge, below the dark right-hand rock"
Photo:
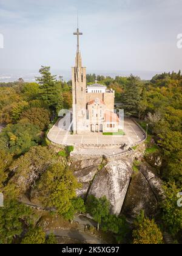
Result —
<instances>
[{"instance_id":1,"label":"yellow-orange tree at bottom edge, below the dark right-hand rock","mask_svg":"<svg viewBox=\"0 0 182 256\"><path fill-rule=\"evenodd\" d=\"M163 234L155 221L144 217L144 212L137 216L133 230L133 244L162 244Z\"/></svg>"}]
</instances>

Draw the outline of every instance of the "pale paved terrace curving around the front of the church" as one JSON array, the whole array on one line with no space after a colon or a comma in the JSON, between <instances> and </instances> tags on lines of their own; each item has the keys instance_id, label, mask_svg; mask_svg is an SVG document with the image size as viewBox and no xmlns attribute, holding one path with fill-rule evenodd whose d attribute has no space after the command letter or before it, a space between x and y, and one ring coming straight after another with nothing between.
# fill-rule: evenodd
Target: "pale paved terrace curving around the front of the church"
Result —
<instances>
[{"instance_id":1,"label":"pale paved terrace curving around the front of the church","mask_svg":"<svg viewBox=\"0 0 182 256\"><path fill-rule=\"evenodd\" d=\"M115 151L109 149L112 154L118 154L120 146L126 143L128 146L132 146L135 143L140 143L144 140L145 134L143 130L130 118L124 119L124 133L125 135L103 135L102 133L89 133L89 134L79 134L72 135L67 130L70 126L64 126L66 119L69 118L67 115L56 123L52 129L50 129L47 137L50 141L56 144L63 145L73 145L78 146L78 148L87 148L87 151L81 150L81 154L86 154L90 151L92 154L95 146L103 146L104 151L108 151L106 148L108 146L115 148ZM119 146L120 145L120 146ZM94 146L94 147L93 147ZM90 148L90 149L89 149ZM117 149L118 148L118 149ZM99 152L98 152L99 153Z\"/></svg>"}]
</instances>

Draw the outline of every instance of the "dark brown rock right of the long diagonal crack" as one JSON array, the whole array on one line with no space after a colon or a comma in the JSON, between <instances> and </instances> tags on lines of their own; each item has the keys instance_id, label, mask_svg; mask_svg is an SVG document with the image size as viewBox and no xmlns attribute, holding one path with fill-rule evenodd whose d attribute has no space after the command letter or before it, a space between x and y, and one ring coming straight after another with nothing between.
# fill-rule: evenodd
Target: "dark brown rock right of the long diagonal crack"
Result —
<instances>
[{"instance_id":1,"label":"dark brown rock right of the long diagonal crack","mask_svg":"<svg viewBox=\"0 0 182 256\"><path fill-rule=\"evenodd\" d=\"M135 218L141 210L144 210L147 216L155 215L158 200L162 196L160 178L150 165L141 163L140 171L132 176L121 213L128 218Z\"/></svg>"}]
</instances>

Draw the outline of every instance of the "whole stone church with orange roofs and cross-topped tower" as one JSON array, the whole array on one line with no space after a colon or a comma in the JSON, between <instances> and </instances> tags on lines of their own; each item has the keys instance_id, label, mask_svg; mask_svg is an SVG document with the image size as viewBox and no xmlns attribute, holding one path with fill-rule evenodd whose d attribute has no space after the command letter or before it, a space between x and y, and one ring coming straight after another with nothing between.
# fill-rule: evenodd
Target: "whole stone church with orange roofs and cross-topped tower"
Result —
<instances>
[{"instance_id":1,"label":"whole stone church with orange roofs and cross-topped tower","mask_svg":"<svg viewBox=\"0 0 182 256\"><path fill-rule=\"evenodd\" d=\"M77 51L72 68L73 133L118 132L119 118L114 113L115 91L105 85L88 85L86 68L82 66L79 52L79 29L76 30Z\"/></svg>"}]
</instances>

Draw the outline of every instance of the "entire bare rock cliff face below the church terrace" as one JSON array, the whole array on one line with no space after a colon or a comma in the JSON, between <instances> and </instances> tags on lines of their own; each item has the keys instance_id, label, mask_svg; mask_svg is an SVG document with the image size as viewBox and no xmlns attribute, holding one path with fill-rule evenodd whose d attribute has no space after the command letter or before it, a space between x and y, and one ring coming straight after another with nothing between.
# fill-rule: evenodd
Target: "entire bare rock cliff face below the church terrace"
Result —
<instances>
[{"instance_id":1,"label":"entire bare rock cliff face below the church terrace","mask_svg":"<svg viewBox=\"0 0 182 256\"><path fill-rule=\"evenodd\" d=\"M77 195L84 199L89 194L98 198L106 196L111 213L123 213L128 218L135 218L141 210L147 216L155 214L158 200L163 196L161 180L146 162L141 162L138 173L133 172L133 158L141 160L141 157L142 153L136 152L133 157L122 157L105 166L101 158L73 160L74 174L83 185L76 191Z\"/></svg>"}]
</instances>

